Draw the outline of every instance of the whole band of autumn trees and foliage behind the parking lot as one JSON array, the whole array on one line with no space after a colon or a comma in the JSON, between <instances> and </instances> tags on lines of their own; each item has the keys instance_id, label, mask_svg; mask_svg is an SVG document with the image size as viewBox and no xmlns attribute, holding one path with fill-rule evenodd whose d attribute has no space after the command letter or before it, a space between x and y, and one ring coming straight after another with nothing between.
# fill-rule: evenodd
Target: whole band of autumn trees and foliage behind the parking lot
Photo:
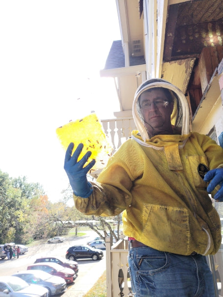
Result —
<instances>
[{"instance_id":1,"label":"whole band of autumn trees and foliage behind the parking lot","mask_svg":"<svg viewBox=\"0 0 223 297\"><path fill-rule=\"evenodd\" d=\"M25 176L10 178L0 171L0 243L45 241L53 236L66 236L72 228L77 236L81 225L74 222L79 220L99 221L96 225L86 223L84 228L89 227L104 237L109 232L117 240L114 226L105 218L80 213L74 205L67 205L69 199L73 199L70 187L64 191L64 200L52 203L39 183L28 183ZM117 222L120 218L116 218Z\"/></svg>"}]
</instances>

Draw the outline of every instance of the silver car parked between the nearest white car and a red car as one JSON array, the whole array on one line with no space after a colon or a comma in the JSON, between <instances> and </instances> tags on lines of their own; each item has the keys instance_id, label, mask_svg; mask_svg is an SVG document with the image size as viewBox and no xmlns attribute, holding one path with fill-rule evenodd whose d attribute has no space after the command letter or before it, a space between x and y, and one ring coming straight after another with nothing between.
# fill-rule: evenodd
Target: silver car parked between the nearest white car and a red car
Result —
<instances>
[{"instance_id":1,"label":"silver car parked between the nearest white car and a red car","mask_svg":"<svg viewBox=\"0 0 223 297\"><path fill-rule=\"evenodd\" d=\"M17 276L25 280L28 284L36 284L48 290L48 296L64 293L67 290L67 283L60 276L53 276L48 272L40 270L20 271L13 276Z\"/></svg>"}]
</instances>

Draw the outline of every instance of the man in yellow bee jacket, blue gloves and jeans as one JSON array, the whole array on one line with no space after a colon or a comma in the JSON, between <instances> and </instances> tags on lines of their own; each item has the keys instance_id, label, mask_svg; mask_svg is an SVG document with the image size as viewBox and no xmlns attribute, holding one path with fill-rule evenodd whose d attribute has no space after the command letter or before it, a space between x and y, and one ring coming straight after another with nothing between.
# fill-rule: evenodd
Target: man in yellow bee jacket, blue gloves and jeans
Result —
<instances>
[{"instance_id":1,"label":"man in yellow bee jacket, blue gloves and jeans","mask_svg":"<svg viewBox=\"0 0 223 297\"><path fill-rule=\"evenodd\" d=\"M90 152L70 144L65 171L76 208L87 215L123 212L129 269L136 297L212 297L205 256L221 245L221 223L208 193L223 200L223 149L192 133L187 100L167 81L151 79L136 91L138 128L88 182ZM207 187L207 182L210 181ZM207 192L208 191L208 192Z\"/></svg>"}]
</instances>

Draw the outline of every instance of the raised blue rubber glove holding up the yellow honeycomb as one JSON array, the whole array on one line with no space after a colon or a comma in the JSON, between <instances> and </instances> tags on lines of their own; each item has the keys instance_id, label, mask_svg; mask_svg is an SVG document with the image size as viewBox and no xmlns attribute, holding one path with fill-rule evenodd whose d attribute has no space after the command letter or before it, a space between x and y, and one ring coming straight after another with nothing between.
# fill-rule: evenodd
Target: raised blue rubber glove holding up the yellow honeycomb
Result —
<instances>
[{"instance_id":1,"label":"raised blue rubber glove holding up the yellow honeycomb","mask_svg":"<svg viewBox=\"0 0 223 297\"><path fill-rule=\"evenodd\" d=\"M83 158L77 162L83 144L79 144L71 156L73 148L74 143L70 143L65 155L64 170L68 175L74 194L82 198L88 198L92 194L93 188L91 183L87 180L87 173L95 165L95 160L92 160L86 167L83 167L90 157L91 151L88 151Z\"/></svg>"}]
</instances>

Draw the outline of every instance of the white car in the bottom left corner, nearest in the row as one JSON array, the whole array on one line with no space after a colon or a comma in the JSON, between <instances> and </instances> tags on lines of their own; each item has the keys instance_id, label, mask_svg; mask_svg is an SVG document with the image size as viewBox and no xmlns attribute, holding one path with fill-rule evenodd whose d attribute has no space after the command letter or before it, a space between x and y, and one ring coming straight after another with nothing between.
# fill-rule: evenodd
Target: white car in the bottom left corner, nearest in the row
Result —
<instances>
[{"instance_id":1,"label":"white car in the bottom left corner, nearest in the row","mask_svg":"<svg viewBox=\"0 0 223 297\"><path fill-rule=\"evenodd\" d=\"M17 276L0 276L0 296L48 297L48 290L38 285L29 285Z\"/></svg>"}]
</instances>

